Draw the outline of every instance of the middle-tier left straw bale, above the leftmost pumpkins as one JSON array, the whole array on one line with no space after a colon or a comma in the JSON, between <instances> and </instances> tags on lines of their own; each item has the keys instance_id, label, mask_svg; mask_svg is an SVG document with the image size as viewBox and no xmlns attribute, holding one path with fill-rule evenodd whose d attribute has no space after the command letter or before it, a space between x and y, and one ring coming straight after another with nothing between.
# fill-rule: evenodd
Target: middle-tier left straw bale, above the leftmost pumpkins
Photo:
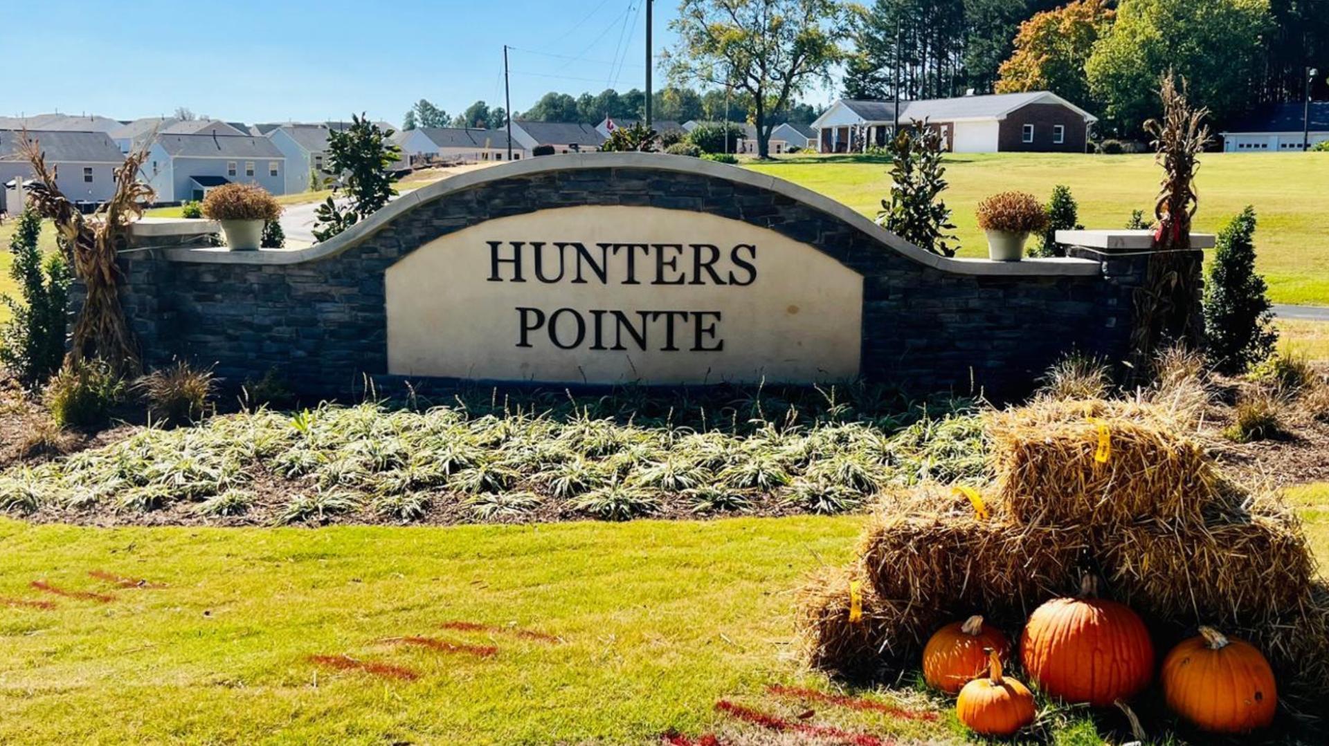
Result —
<instances>
[{"instance_id":1,"label":"middle-tier left straw bale, above the leftmost pumpkins","mask_svg":"<svg viewBox=\"0 0 1329 746\"><path fill-rule=\"evenodd\" d=\"M881 599L946 619L983 613L1018 623L1076 587L1086 539L1078 530L1021 526L999 506L979 518L968 498L924 488L884 499L859 554Z\"/></svg>"}]
</instances>

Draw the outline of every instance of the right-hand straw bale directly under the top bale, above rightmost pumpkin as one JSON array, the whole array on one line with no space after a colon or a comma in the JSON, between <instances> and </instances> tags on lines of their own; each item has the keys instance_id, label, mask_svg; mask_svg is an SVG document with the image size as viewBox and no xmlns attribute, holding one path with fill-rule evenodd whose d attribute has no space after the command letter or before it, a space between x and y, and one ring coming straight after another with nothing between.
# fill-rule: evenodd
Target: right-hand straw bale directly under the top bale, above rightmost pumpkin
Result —
<instances>
[{"instance_id":1,"label":"right-hand straw bale directly under the top bale, above rightmost pumpkin","mask_svg":"<svg viewBox=\"0 0 1329 746\"><path fill-rule=\"evenodd\" d=\"M1316 561L1294 515L1273 503L1191 523L1112 527L1095 556L1114 593L1140 612L1229 624L1293 609Z\"/></svg>"}]
</instances>

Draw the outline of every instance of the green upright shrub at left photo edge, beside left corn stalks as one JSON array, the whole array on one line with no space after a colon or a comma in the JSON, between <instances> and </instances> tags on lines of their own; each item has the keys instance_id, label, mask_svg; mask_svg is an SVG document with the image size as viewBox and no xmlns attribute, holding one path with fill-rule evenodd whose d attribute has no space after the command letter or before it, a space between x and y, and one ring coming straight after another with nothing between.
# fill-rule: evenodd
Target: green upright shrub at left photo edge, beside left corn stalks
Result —
<instances>
[{"instance_id":1,"label":"green upright shrub at left photo edge, beside left corn stalks","mask_svg":"<svg viewBox=\"0 0 1329 746\"><path fill-rule=\"evenodd\" d=\"M9 240L9 276L21 297L0 296L11 315L0 327L0 365L28 386L49 378L65 356L69 265L58 252L43 259L40 234L41 218L24 210Z\"/></svg>"}]
</instances>

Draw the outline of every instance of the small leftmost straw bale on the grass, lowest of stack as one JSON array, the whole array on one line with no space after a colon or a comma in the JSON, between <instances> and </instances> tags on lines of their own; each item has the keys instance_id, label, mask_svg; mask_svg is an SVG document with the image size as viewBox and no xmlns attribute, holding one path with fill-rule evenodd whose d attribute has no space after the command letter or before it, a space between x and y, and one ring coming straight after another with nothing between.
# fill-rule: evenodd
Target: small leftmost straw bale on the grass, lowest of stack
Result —
<instances>
[{"instance_id":1,"label":"small leftmost straw bale on the grass, lowest of stack","mask_svg":"<svg viewBox=\"0 0 1329 746\"><path fill-rule=\"evenodd\" d=\"M857 580L863 619L849 620L849 584ZM857 563L823 568L799 589L796 625L812 668L845 677L868 677L914 662L937 627L937 611L884 601Z\"/></svg>"}]
</instances>

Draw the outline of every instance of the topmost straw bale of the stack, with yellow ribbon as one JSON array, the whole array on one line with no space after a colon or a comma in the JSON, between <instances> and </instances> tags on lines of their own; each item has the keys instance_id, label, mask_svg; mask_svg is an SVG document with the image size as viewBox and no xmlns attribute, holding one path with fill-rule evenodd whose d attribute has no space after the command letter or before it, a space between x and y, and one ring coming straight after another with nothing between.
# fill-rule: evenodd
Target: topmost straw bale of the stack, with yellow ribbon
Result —
<instances>
[{"instance_id":1,"label":"topmost straw bale of the stack, with yellow ribbon","mask_svg":"<svg viewBox=\"0 0 1329 746\"><path fill-rule=\"evenodd\" d=\"M997 498L1022 523L1199 522L1223 503L1201 445L1146 404L1041 401L993 414L987 433Z\"/></svg>"}]
</instances>

